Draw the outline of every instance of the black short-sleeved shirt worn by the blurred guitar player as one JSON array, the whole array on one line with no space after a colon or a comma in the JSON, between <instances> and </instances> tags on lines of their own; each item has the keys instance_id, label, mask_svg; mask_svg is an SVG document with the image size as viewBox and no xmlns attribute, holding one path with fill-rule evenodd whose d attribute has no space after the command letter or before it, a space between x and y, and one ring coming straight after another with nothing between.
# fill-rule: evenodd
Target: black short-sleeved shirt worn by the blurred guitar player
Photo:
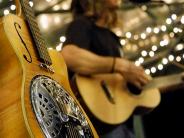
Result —
<instances>
[{"instance_id":1,"label":"black short-sleeved shirt worn by the blurred guitar player","mask_svg":"<svg viewBox=\"0 0 184 138\"><path fill-rule=\"evenodd\" d=\"M98 27L89 17L80 17L70 23L66 32L67 44L75 44L101 56L120 57L119 38L109 29ZM69 70L69 77L73 76Z\"/></svg>"}]
</instances>

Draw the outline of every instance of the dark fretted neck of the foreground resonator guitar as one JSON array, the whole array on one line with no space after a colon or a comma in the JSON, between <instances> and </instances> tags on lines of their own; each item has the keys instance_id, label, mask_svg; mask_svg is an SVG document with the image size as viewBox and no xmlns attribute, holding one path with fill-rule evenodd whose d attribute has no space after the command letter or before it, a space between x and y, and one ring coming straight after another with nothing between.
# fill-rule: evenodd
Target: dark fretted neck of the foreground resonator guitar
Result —
<instances>
[{"instance_id":1,"label":"dark fretted neck of the foreground resonator guitar","mask_svg":"<svg viewBox=\"0 0 184 138\"><path fill-rule=\"evenodd\" d=\"M29 29L31 31L32 37L35 42L36 49L38 51L39 59L46 63L47 65L51 65L52 61L49 56L45 41L41 36L40 29L38 27L37 21L35 20L34 11L29 5L29 0L20 0L21 7L23 9L23 13L29 25Z\"/></svg>"}]
</instances>

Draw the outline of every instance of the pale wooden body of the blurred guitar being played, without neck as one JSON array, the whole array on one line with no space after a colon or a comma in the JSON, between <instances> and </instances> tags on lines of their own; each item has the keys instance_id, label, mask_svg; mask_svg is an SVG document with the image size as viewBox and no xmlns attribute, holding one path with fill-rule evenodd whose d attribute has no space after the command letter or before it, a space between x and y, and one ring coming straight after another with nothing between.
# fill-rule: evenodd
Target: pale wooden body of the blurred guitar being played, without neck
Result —
<instances>
[{"instance_id":1,"label":"pale wooden body of the blurred guitar being played, without neck","mask_svg":"<svg viewBox=\"0 0 184 138\"><path fill-rule=\"evenodd\" d=\"M126 121L134 111L148 111L160 103L158 89L147 89L140 94L130 92L120 74L100 74L90 77L75 76L80 97L89 111L103 123L116 125ZM113 98L108 99L101 82ZM140 109L140 110L138 110Z\"/></svg>"}]
</instances>

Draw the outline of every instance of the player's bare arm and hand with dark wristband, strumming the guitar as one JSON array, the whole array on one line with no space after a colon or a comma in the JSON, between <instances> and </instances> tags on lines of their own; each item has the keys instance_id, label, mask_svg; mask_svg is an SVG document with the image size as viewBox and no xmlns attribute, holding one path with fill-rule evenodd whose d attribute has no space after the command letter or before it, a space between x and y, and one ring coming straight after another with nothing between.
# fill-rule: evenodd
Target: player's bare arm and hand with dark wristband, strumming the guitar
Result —
<instances>
[{"instance_id":1,"label":"player's bare arm and hand with dark wristband, strumming the guitar","mask_svg":"<svg viewBox=\"0 0 184 138\"><path fill-rule=\"evenodd\" d=\"M65 46L61 53L67 67L76 73L90 75L112 71L114 57L99 56L75 45ZM113 70L139 88L149 80L142 67L123 58L116 57Z\"/></svg>"}]
</instances>

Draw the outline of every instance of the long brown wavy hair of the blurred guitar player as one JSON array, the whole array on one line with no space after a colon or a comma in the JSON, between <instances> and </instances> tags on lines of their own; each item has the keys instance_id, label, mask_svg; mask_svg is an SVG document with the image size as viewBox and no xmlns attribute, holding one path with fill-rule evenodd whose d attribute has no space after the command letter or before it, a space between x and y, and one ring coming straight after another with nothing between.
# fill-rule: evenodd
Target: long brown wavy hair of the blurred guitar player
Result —
<instances>
[{"instance_id":1,"label":"long brown wavy hair of the blurred guitar player","mask_svg":"<svg viewBox=\"0 0 184 138\"><path fill-rule=\"evenodd\" d=\"M71 11L73 17L80 16L92 17L95 21L101 18L102 13L106 13L105 21L108 27L117 25L117 12L115 7L108 6L106 0L72 0Z\"/></svg>"}]
</instances>

